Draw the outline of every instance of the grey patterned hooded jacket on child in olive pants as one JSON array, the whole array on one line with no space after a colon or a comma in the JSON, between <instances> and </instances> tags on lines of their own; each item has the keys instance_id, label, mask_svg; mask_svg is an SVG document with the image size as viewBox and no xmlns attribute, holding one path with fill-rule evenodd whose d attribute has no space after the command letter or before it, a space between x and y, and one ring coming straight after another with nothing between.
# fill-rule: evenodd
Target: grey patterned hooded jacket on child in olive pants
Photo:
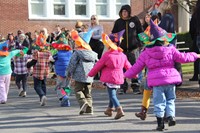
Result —
<instances>
[{"instance_id":1,"label":"grey patterned hooded jacket on child in olive pants","mask_svg":"<svg viewBox=\"0 0 200 133\"><path fill-rule=\"evenodd\" d=\"M93 78L87 77L87 75L97 60L97 53L92 50L75 50L66 69L66 74L72 76L75 81L91 83Z\"/></svg>"}]
</instances>

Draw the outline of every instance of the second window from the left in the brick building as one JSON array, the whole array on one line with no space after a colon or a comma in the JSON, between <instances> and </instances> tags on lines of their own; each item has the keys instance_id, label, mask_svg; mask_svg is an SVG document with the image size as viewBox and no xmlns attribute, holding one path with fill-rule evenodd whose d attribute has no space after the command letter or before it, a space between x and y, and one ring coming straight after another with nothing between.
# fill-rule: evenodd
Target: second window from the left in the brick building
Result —
<instances>
[{"instance_id":1,"label":"second window from the left in the brick building","mask_svg":"<svg viewBox=\"0 0 200 133\"><path fill-rule=\"evenodd\" d=\"M65 0L54 0L54 15L65 15Z\"/></svg>"}]
</instances>

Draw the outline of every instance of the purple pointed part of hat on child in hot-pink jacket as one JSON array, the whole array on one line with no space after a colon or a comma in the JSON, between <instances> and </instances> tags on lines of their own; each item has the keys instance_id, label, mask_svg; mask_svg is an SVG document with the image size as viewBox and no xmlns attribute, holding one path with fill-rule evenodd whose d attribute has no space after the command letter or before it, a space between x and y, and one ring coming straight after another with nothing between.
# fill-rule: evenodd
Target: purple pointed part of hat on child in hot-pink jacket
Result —
<instances>
[{"instance_id":1,"label":"purple pointed part of hat on child in hot-pink jacket","mask_svg":"<svg viewBox=\"0 0 200 133\"><path fill-rule=\"evenodd\" d=\"M122 36L123 36L124 32L125 32L125 29L124 29L124 30L121 30L121 31L119 31L119 32L117 32L117 33L109 34L108 36L109 36L109 38L110 38L110 40L111 40L112 42L116 43L117 46L119 46L120 43L121 43Z\"/></svg>"}]
</instances>

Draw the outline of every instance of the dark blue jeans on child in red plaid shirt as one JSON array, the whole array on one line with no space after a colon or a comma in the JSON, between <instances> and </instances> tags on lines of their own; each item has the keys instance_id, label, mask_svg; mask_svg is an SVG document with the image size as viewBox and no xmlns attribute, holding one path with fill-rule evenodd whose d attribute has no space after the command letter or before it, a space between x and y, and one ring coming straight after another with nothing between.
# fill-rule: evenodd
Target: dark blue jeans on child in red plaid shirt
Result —
<instances>
[{"instance_id":1,"label":"dark blue jeans on child in red plaid shirt","mask_svg":"<svg viewBox=\"0 0 200 133\"><path fill-rule=\"evenodd\" d=\"M46 77L43 80L33 77L34 80L34 89L39 95L40 100L42 96L46 96Z\"/></svg>"}]
</instances>

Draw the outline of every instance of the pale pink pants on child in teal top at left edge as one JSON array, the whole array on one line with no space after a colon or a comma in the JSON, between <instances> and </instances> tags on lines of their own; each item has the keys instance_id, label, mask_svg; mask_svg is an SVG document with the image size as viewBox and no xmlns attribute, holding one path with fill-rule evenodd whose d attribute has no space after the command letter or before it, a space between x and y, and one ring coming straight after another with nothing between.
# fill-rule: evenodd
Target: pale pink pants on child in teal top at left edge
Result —
<instances>
[{"instance_id":1,"label":"pale pink pants on child in teal top at left edge","mask_svg":"<svg viewBox=\"0 0 200 133\"><path fill-rule=\"evenodd\" d=\"M8 75L0 75L0 102L6 102L8 97L8 91L10 87L10 77Z\"/></svg>"}]
</instances>

